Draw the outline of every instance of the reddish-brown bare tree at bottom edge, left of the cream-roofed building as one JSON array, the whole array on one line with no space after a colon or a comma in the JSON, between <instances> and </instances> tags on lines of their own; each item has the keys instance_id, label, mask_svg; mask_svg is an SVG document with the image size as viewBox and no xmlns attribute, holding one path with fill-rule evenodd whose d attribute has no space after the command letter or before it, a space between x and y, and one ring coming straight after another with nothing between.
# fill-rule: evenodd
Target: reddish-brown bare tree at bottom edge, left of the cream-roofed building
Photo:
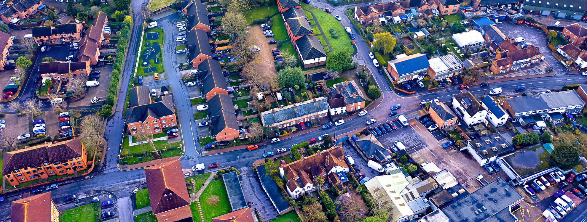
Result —
<instances>
[{"instance_id":1,"label":"reddish-brown bare tree at bottom edge, left of the cream-roofed building","mask_svg":"<svg viewBox=\"0 0 587 222\"><path fill-rule=\"evenodd\" d=\"M349 192L350 197L339 196L335 200L336 206L339 207L338 214L340 218L350 222L362 221L367 216L369 207L365 204L363 197L356 192Z\"/></svg>"}]
</instances>

